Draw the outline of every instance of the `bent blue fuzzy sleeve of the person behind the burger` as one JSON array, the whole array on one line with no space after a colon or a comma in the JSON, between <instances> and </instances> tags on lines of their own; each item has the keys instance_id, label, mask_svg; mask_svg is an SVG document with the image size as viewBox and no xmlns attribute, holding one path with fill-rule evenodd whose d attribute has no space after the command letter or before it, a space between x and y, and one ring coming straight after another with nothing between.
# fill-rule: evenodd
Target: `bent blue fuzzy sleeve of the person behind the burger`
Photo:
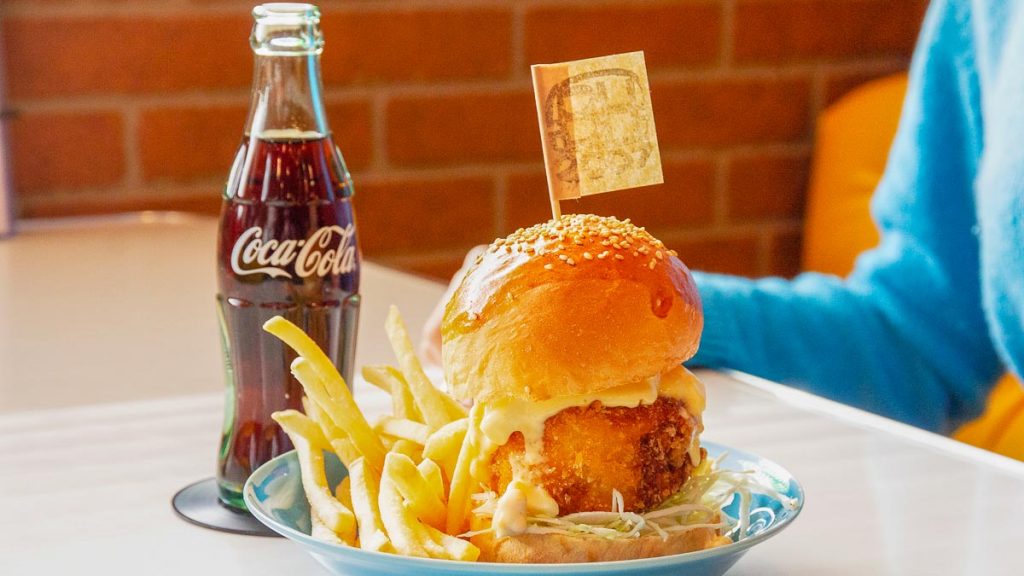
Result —
<instances>
[{"instance_id":1,"label":"bent blue fuzzy sleeve of the person behind the burger","mask_svg":"<svg viewBox=\"0 0 1024 576\"><path fill-rule=\"evenodd\" d=\"M973 195L982 137L970 11L932 3L871 211L882 233L846 279L695 274L694 365L734 368L933 430L978 414L1000 372L981 307Z\"/></svg>"}]
</instances>

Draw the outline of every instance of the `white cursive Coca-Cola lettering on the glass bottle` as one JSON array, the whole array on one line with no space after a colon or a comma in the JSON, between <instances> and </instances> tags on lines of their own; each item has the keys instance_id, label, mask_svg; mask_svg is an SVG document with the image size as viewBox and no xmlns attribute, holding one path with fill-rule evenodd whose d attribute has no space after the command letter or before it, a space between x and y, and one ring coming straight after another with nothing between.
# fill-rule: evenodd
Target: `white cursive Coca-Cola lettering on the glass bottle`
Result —
<instances>
[{"instance_id":1,"label":"white cursive Coca-Cola lettering on the glass bottle","mask_svg":"<svg viewBox=\"0 0 1024 576\"><path fill-rule=\"evenodd\" d=\"M316 229L304 240L264 240L263 229L253 227L234 242L231 270L239 276L265 274L271 278L348 274L356 264L354 240L351 223Z\"/></svg>"}]
</instances>

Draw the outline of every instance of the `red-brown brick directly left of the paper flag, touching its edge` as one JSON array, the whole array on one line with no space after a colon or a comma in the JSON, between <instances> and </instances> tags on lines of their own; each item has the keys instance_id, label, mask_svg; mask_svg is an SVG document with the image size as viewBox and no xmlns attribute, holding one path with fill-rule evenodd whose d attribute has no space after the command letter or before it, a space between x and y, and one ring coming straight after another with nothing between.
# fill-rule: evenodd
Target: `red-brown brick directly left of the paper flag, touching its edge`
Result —
<instances>
[{"instance_id":1,"label":"red-brown brick directly left of the paper flag, touching its edge","mask_svg":"<svg viewBox=\"0 0 1024 576\"><path fill-rule=\"evenodd\" d=\"M387 107L387 150L404 165L543 162L528 91L395 98Z\"/></svg>"}]
</instances>

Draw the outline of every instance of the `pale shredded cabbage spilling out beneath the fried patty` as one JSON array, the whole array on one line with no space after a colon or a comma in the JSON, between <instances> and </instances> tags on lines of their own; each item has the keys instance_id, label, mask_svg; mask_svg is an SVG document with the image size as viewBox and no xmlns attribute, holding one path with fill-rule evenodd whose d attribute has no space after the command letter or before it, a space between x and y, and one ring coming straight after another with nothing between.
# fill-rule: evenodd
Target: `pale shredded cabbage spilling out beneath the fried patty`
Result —
<instances>
[{"instance_id":1,"label":"pale shredded cabbage spilling out beneath the fried patty","mask_svg":"<svg viewBox=\"0 0 1024 576\"><path fill-rule=\"evenodd\" d=\"M794 499L775 490L755 470L721 469L719 463L724 457L725 454L717 460L706 458L679 492L645 513L626 511L622 493L612 490L610 511L583 511L558 518L530 516L526 518L526 534L586 534L609 539L656 534L666 540L672 533L711 528L741 540L750 533L752 517L758 517L756 523L759 525L770 525L775 520L775 511L771 508L751 509L752 495L768 496L790 509L796 507ZM477 503L474 513L481 518L494 516L498 494L482 492L472 498ZM724 511L734 498L739 498L735 518ZM716 517L719 521L713 522ZM486 528L461 536L472 537L492 531Z\"/></svg>"}]
</instances>

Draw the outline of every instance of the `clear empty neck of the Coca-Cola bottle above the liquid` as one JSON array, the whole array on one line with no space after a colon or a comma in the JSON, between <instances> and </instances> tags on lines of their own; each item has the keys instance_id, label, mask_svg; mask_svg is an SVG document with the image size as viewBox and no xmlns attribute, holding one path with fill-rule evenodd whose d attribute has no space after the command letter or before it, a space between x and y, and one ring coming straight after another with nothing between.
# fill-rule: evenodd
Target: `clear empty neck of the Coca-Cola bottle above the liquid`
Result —
<instances>
[{"instance_id":1,"label":"clear empty neck of the Coca-Cola bottle above the liquid","mask_svg":"<svg viewBox=\"0 0 1024 576\"><path fill-rule=\"evenodd\" d=\"M330 134L324 113L319 54L256 54L246 135L313 139Z\"/></svg>"}]
</instances>

